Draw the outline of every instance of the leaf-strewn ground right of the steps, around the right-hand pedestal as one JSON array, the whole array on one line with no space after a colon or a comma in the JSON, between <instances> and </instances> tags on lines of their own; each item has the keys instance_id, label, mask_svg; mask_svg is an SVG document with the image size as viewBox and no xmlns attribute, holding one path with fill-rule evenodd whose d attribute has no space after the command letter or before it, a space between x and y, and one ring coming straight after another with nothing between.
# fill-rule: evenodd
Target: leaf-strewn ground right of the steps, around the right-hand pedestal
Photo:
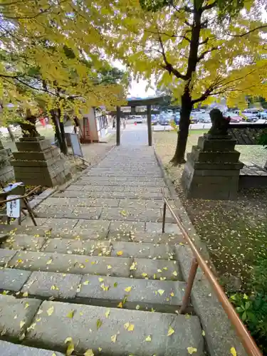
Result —
<instances>
[{"instance_id":1,"label":"leaf-strewn ground right of the steps, around the right-hand pedestal","mask_svg":"<svg viewBox=\"0 0 267 356\"><path fill-rule=\"evenodd\" d=\"M197 145L197 139L203 133L203 130L190 132L187 152L191 151L192 145ZM267 258L267 189L246 189L239 192L237 201L185 199L179 183L183 167L169 164L176 140L176 132L154 132L157 154L174 181L194 227L209 248L221 283L226 283L230 290L236 288L233 280L241 281L241 288L248 291L253 266L259 258ZM236 150L241 152L241 162L266 162L267 150L263 147L236 146Z\"/></svg>"}]
</instances>

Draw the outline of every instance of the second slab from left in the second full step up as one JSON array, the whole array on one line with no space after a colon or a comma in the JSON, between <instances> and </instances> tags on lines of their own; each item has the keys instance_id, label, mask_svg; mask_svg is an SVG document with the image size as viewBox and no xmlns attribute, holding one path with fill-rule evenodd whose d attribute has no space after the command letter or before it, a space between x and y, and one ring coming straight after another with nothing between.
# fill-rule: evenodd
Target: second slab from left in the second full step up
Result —
<instances>
[{"instance_id":1,"label":"second slab from left in the second full step up","mask_svg":"<svg viewBox=\"0 0 267 356\"><path fill-rule=\"evenodd\" d=\"M33 272L21 292L44 298L73 299L81 278L70 273Z\"/></svg>"}]
</instances>

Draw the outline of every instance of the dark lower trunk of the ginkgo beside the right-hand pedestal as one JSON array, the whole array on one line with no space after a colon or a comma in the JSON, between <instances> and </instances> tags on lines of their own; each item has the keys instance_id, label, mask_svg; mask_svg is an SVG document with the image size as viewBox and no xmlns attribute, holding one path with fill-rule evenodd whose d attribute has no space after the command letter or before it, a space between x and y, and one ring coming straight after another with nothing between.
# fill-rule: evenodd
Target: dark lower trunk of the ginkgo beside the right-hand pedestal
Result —
<instances>
[{"instance_id":1,"label":"dark lower trunk of the ginkgo beside the right-hand pedestal","mask_svg":"<svg viewBox=\"0 0 267 356\"><path fill-rule=\"evenodd\" d=\"M185 163L184 155L187 148L187 137L189 133L190 114L192 111L192 99L189 90L182 95L182 108L180 111L179 132L177 135L177 146L171 162L174 166Z\"/></svg>"}]
</instances>

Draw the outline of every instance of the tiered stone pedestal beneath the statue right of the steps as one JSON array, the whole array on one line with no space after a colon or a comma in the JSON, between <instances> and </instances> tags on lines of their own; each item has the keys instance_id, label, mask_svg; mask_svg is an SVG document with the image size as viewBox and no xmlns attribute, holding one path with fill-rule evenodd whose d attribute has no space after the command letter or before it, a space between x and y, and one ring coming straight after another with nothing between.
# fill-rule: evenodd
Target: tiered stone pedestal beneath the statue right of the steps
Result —
<instances>
[{"instance_id":1,"label":"tiered stone pedestal beneath the statue right of the steps","mask_svg":"<svg viewBox=\"0 0 267 356\"><path fill-rule=\"evenodd\" d=\"M236 199L239 172L244 166L229 135L205 134L187 154L182 187L187 198Z\"/></svg>"}]
</instances>

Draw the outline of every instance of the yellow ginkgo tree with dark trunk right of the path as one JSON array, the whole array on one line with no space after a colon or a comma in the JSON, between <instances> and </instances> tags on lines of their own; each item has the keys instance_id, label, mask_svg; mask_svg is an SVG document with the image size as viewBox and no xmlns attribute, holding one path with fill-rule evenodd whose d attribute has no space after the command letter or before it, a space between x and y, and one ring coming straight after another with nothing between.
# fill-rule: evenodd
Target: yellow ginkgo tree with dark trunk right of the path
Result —
<instances>
[{"instance_id":1,"label":"yellow ginkgo tree with dark trunk right of the path","mask_svg":"<svg viewBox=\"0 0 267 356\"><path fill-rule=\"evenodd\" d=\"M104 0L103 0L104 1ZM169 88L181 105L173 164L184 161L190 113L220 97L244 107L267 97L267 25L261 0L105 1L104 33L137 77ZM110 36L112 33L112 36Z\"/></svg>"}]
</instances>

